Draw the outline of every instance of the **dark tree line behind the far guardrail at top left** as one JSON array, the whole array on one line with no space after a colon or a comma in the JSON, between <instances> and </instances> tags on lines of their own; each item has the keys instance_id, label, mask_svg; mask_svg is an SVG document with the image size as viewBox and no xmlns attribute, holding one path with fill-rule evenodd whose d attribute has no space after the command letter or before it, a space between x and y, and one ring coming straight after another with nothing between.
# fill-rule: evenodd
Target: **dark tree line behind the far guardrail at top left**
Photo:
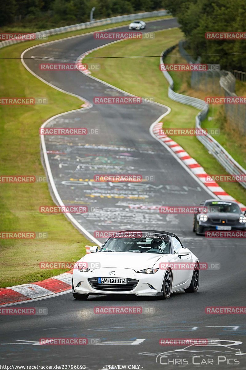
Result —
<instances>
[{"instance_id":1,"label":"dark tree line behind the far guardrail at top left","mask_svg":"<svg viewBox=\"0 0 246 370\"><path fill-rule=\"evenodd\" d=\"M65 26L123 14L163 9L163 0L7 0L0 5L0 26L34 24L37 28Z\"/></svg>"}]
</instances>

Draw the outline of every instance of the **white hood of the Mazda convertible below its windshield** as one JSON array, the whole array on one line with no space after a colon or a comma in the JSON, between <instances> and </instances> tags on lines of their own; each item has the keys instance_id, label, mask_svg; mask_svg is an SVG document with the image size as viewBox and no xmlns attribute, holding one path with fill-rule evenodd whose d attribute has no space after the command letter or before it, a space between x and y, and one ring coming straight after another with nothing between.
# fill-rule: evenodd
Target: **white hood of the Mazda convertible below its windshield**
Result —
<instances>
[{"instance_id":1,"label":"white hood of the Mazda convertible below its windshield","mask_svg":"<svg viewBox=\"0 0 246 370\"><path fill-rule=\"evenodd\" d=\"M87 262L88 267L90 263L92 266L93 263L99 263L101 268L126 268L139 271L153 267L160 258L162 258L162 262L168 262L170 260L170 255L132 252L99 252L87 254L78 262Z\"/></svg>"}]
</instances>

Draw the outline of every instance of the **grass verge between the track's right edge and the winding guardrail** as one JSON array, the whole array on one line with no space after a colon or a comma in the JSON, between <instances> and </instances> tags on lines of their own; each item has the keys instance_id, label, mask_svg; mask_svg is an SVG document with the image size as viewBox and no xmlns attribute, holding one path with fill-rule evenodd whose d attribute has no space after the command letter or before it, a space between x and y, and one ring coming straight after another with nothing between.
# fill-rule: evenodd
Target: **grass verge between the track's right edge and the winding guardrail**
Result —
<instances>
[{"instance_id":1,"label":"grass verge between the track's right edge and the winding guardrail","mask_svg":"<svg viewBox=\"0 0 246 370\"><path fill-rule=\"evenodd\" d=\"M124 40L94 51L90 63L97 63L98 57L108 55L159 55L166 48L177 44L183 37L179 29L160 31L154 40ZM86 62L86 58L83 59ZM159 70L159 58L105 58L100 59L101 69L93 75L103 81L142 97L153 97L156 102L166 104L171 113L164 118L165 128L194 127L198 110L180 104L167 97L168 83ZM150 122L151 123L151 122ZM226 174L225 169L209 155L207 149L194 136L173 136L191 157L195 158L208 174ZM237 183L219 183L226 192L238 201L246 202L246 191Z\"/></svg>"}]
</instances>

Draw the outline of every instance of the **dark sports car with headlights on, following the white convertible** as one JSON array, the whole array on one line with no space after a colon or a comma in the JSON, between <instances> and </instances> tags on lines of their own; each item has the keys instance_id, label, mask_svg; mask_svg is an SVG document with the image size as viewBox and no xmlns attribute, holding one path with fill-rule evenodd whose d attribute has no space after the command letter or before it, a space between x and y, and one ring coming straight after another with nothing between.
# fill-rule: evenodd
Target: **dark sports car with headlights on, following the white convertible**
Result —
<instances>
[{"instance_id":1,"label":"dark sports car with headlights on, following the white convertible","mask_svg":"<svg viewBox=\"0 0 246 370\"><path fill-rule=\"evenodd\" d=\"M194 214L193 231L204 235L208 230L246 230L246 211L236 202L207 199Z\"/></svg>"}]
</instances>

